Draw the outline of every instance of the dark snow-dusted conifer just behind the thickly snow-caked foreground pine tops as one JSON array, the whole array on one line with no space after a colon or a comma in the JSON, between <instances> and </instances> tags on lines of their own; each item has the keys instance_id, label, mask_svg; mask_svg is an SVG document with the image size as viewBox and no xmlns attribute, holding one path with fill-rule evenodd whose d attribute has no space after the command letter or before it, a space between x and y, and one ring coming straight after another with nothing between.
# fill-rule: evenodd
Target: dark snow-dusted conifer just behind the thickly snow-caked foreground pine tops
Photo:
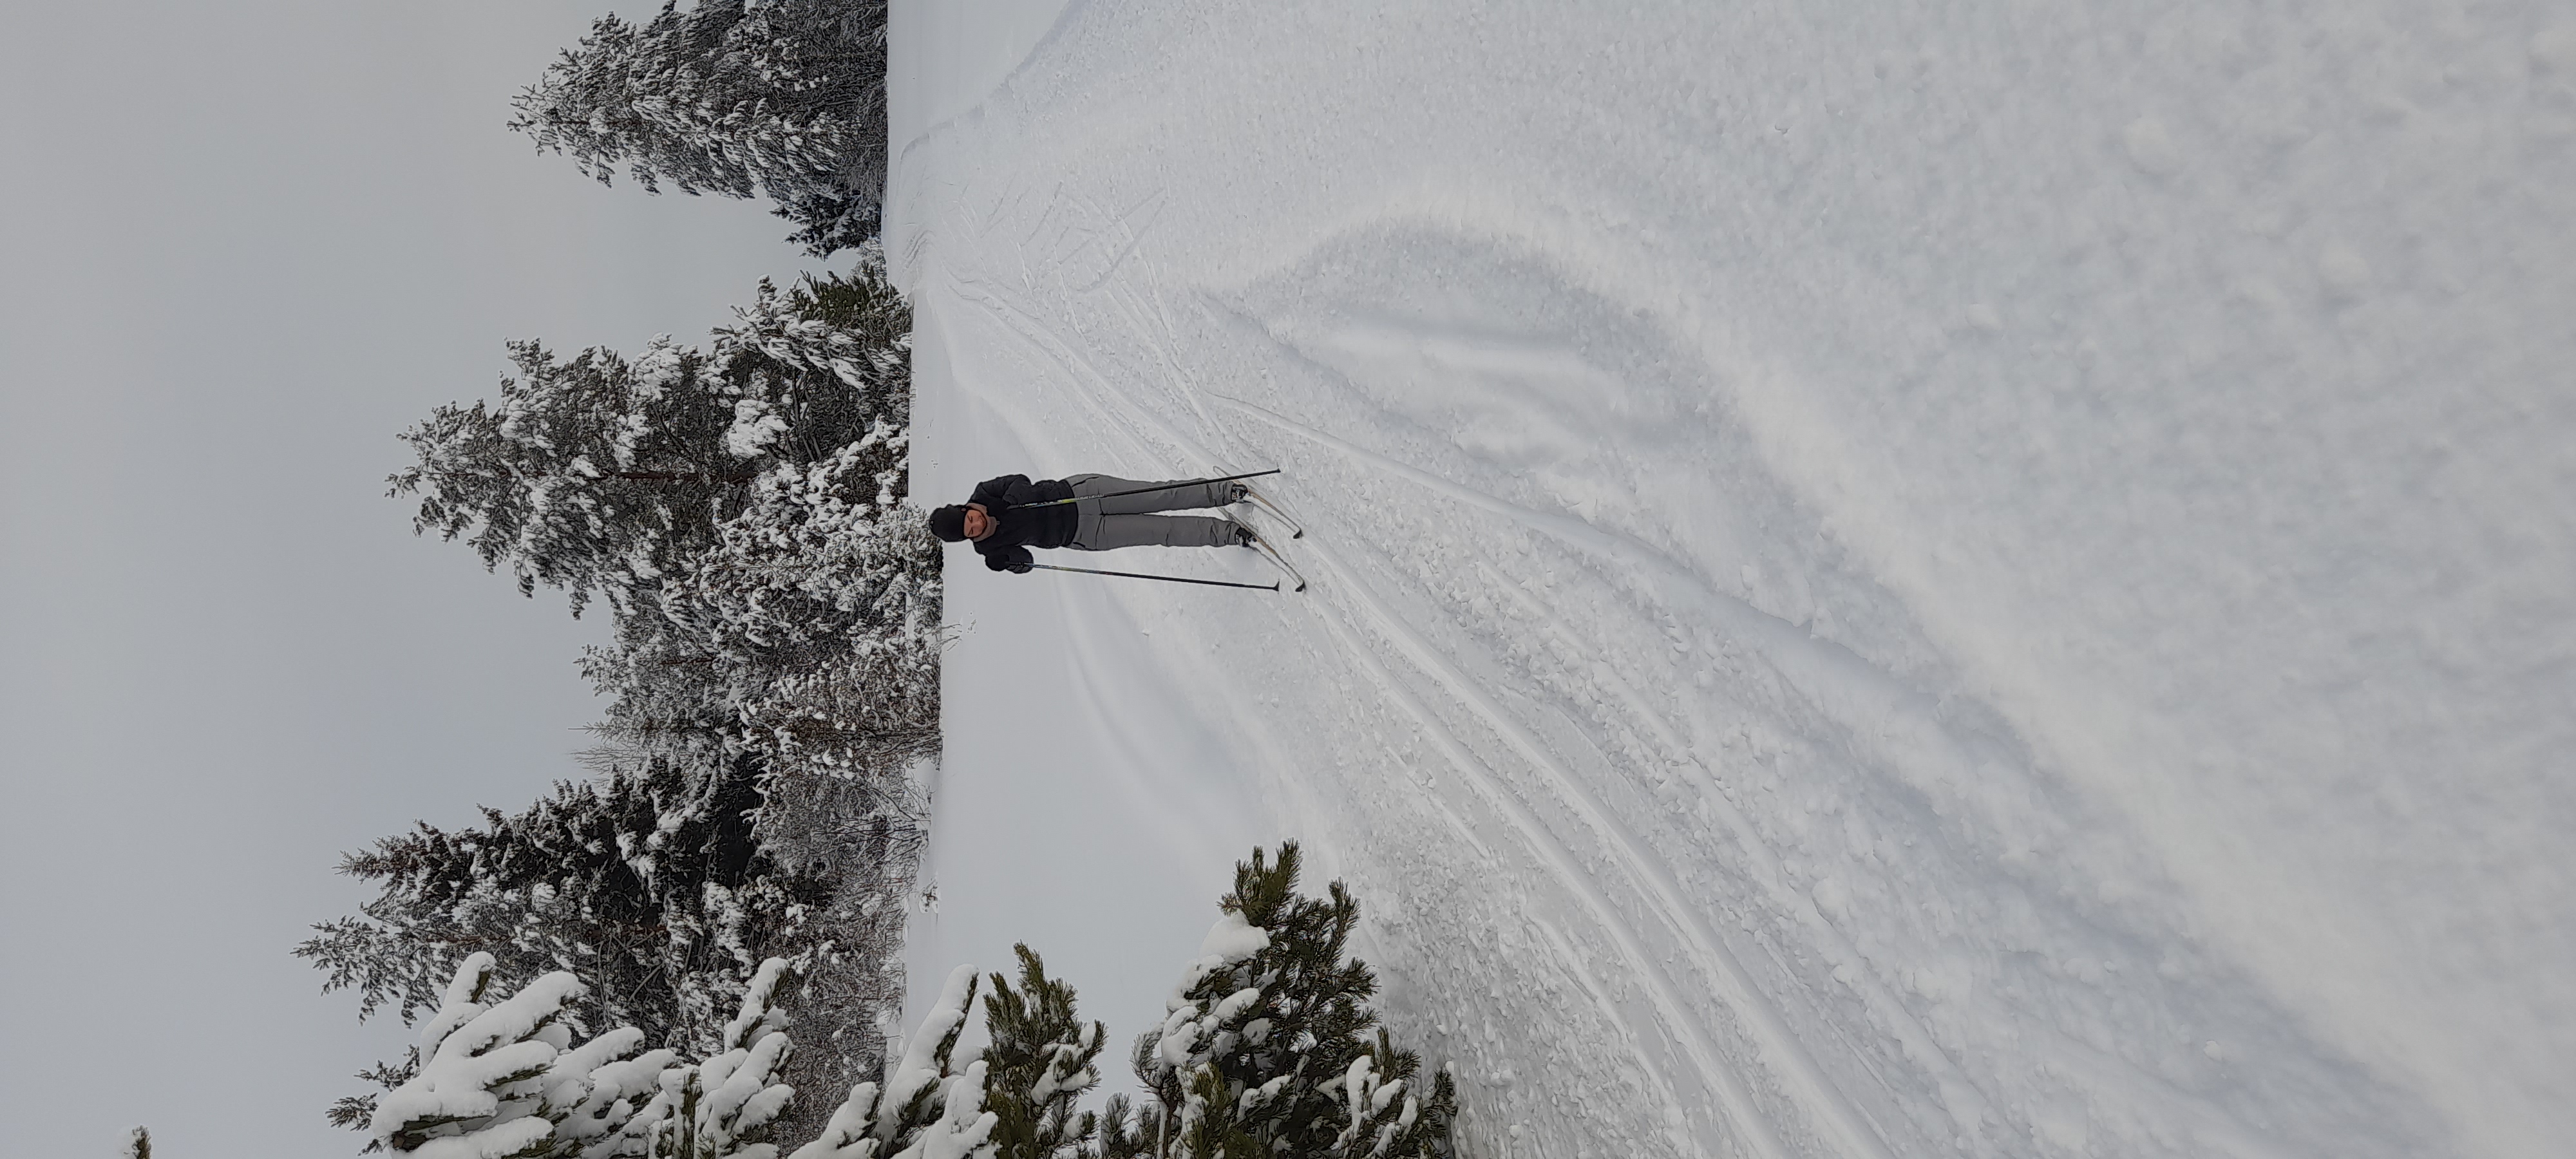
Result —
<instances>
[{"instance_id":1,"label":"dark snow-dusted conifer just behind the thickly snow-caked foreground pine tops","mask_svg":"<svg viewBox=\"0 0 2576 1159\"><path fill-rule=\"evenodd\" d=\"M523 814L430 824L343 860L379 881L361 917L317 925L296 948L327 971L325 992L358 989L361 1017L404 1022L435 1010L443 979L474 953L500 986L549 971L585 981L574 1015L636 1025L654 1046L708 1053L762 958L814 953L804 917L829 886L786 871L752 840L750 770L683 770L654 760L556 786ZM417 1059L363 1077L394 1087ZM330 1118L363 1126L371 1097Z\"/></svg>"}]
</instances>

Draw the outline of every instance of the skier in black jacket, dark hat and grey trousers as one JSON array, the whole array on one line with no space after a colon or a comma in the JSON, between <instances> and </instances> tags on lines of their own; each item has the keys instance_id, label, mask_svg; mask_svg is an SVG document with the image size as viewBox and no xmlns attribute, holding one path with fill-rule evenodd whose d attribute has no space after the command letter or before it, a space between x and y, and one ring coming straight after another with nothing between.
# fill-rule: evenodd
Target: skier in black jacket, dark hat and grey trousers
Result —
<instances>
[{"instance_id":1,"label":"skier in black jacket, dark hat and grey trousers","mask_svg":"<svg viewBox=\"0 0 2576 1159\"><path fill-rule=\"evenodd\" d=\"M1242 502L1242 482L1136 482L1108 474L1036 479L1005 474L984 479L966 502L930 513L930 533L948 543L974 543L984 567L1028 574L1028 549L1113 551L1128 546L1252 546L1249 525L1213 515L1154 515L1162 510L1226 507ZM1072 502L1066 502L1072 500Z\"/></svg>"}]
</instances>

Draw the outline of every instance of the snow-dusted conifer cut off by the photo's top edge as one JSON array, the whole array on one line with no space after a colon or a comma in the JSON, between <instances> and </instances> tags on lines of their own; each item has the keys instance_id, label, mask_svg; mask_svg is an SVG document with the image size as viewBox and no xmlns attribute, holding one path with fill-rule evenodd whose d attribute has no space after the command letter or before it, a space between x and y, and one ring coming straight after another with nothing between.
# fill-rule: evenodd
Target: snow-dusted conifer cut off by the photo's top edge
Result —
<instances>
[{"instance_id":1,"label":"snow-dusted conifer cut off by the photo's top edge","mask_svg":"<svg viewBox=\"0 0 2576 1159\"><path fill-rule=\"evenodd\" d=\"M510 129L608 183L768 196L814 255L876 234L886 183L884 0L665 3L592 23Z\"/></svg>"}]
</instances>

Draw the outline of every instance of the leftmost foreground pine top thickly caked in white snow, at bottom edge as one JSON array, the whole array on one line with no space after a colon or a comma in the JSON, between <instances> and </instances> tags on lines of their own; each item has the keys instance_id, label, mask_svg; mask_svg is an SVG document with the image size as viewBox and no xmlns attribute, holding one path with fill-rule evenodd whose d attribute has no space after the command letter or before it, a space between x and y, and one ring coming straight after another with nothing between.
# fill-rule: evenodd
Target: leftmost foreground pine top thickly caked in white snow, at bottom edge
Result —
<instances>
[{"instance_id":1,"label":"leftmost foreground pine top thickly caked in white snow, at bottom edge","mask_svg":"<svg viewBox=\"0 0 2576 1159\"><path fill-rule=\"evenodd\" d=\"M500 999L492 956L469 956L422 1025L417 1074L379 1102L371 1149L417 1159L608 1159L641 1154L672 1051L634 1028L574 1046L582 984L546 974Z\"/></svg>"}]
</instances>

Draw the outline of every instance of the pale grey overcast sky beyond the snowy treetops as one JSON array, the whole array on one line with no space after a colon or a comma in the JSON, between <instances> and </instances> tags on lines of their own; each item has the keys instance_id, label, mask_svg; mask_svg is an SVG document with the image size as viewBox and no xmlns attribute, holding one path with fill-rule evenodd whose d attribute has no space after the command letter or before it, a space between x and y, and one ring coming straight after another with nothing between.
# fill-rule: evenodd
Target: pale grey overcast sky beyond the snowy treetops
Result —
<instances>
[{"instance_id":1,"label":"pale grey overcast sky beyond the snowy treetops","mask_svg":"<svg viewBox=\"0 0 2576 1159\"><path fill-rule=\"evenodd\" d=\"M613 5L39 5L0 36L8 1154L335 1156L399 1051L289 958L340 850L572 775L598 623L384 497L505 337L703 335L806 263L760 206L502 129ZM652 5L623 5L644 15Z\"/></svg>"}]
</instances>

